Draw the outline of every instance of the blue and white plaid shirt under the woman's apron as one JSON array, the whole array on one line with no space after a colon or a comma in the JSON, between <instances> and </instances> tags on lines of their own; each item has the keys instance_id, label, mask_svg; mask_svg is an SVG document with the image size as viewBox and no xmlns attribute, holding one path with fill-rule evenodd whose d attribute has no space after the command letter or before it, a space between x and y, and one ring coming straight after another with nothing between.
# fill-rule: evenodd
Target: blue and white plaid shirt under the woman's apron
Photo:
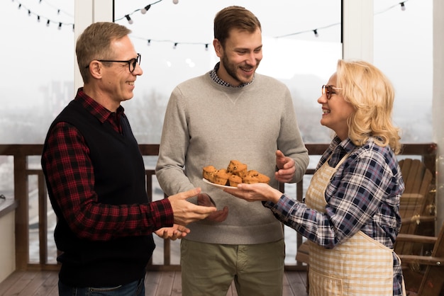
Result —
<instances>
[{"instance_id":1,"label":"blue and white plaid shirt under the woman's apron","mask_svg":"<svg viewBox=\"0 0 444 296\"><path fill-rule=\"evenodd\" d=\"M404 192L401 169L390 147L380 147L370 139L357 147L350 139L335 137L316 166L336 166L349 154L326 188L326 212L311 210L287 195L277 204L264 203L274 215L307 239L327 249L362 231L393 249L401 228L399 199ZM393 295L402 295L401 262L394 259Z\"/></svg>"}]
</instances>

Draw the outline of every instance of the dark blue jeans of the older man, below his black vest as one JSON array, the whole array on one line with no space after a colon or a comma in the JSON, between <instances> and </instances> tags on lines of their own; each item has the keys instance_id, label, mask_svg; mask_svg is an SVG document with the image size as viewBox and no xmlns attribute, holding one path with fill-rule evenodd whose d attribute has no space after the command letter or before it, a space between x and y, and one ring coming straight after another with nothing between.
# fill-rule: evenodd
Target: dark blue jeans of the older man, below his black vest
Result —
<instances>
[{"instance_id":1,"label":"dark blue jeans of the older man, below his black vest","mask_svg":"<svg viewBox=\"0 0 444 296\"><path fill-rule=\"evenodd\" d=\"M75 288L67 286L59 280L60 296L145 296L144 279L135 280L126 285L116 287Z\"/></svg>"}]
</instances>

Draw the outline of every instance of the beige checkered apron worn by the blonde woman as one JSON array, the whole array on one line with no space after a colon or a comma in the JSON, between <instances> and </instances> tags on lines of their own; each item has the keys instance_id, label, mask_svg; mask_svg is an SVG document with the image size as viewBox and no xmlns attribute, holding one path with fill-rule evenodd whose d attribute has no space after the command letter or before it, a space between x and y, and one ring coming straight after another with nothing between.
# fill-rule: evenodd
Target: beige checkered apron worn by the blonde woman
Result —
<instances>
[{"instance_id":1,"label":"beige checkered apron worn by the blonde woman","mask_svg":"<svg viewBox=\"0 0 444 296\"><path fill-rule=\"evenodd\" d=\"M326 161L313 175L306 193L306 205L325 212L325 190L331 177L348 154L332 168ZM309 295L393 295L392 250L357 232L353 237L325 249L310 241Z\"/></svg>"}]
</instances>

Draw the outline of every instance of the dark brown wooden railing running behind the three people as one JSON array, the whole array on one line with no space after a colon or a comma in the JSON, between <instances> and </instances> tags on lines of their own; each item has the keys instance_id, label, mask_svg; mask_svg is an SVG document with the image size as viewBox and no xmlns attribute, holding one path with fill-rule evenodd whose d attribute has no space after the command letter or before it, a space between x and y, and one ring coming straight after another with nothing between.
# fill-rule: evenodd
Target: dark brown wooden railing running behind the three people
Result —
<instances>
[{"instance_id":1,"label":"dark brown wooden railing running behind the three people","mask_svg":"<svg viewBox=\"0 0 444 296\"><path fill-rule=\"evenodd\" d=\"M159 152L158 144L140 144L140 151L143 156L157 156ZM306 144L309 149L310 156L321 155L328 144ZM13 207L7 207L6 210L16 210L16 269L20 271L26 270L57 270L60 266L57 263L48 263L48 191L45 186L45 178L43 171L38 169L31 169L29 167L29 156L40 156L43 149L42 144L0 144L0 156L13 157ZM435 173L435 157L436 144L404 144L403 152L400 157L418 157ZM40 157L39 157L40 159ZM306 175L312 175L314 169L308 169ZM146 169L146 183L148 198L152 200L153 186L152 178L155 176L154 169ZM37 178L37 192L38 192L38 240L39 240L39 259L38 263L30 263L29 249L29 178L36 176ZM304 195L304 181L296 184L296 200L302 200ZM282 186L281 190L284 190ZM0 188L1 193L1 188ZM5 209L3 211L6 211ZM0 209L0 215L2 210ZM296 248L302 243L302 237L294 232L296 236ZM178 264L171 263L171 245L170 240L166 239L163 246L164 263L153 264L150 263L148 270L152 271L168 271L179 270ZM286 265L286 270L296 271L303 270L306 267L301 263L294 265Z\"/></svg>"}]
</instances>

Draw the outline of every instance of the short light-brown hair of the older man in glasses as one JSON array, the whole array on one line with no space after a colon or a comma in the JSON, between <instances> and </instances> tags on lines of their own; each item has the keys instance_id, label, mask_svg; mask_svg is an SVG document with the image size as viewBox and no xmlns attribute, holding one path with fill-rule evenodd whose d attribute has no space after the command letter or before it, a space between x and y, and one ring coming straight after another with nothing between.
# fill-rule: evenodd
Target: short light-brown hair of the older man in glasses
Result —
<instances>
[{"instance_id":1,"label":"short light-brown hair of the older man in glasses","mask_svg":"<svg viewBox=\"0 0 444 296\"><path fill-rule=\"evenodd\" d=\"M89 70L86 68L94 59L110 59L113 52L111 42L130 34L131 30L123 25L111 22L92 23L77 38L77 64L83 82L89 82Z\"/></svg>"}]
</instances>

